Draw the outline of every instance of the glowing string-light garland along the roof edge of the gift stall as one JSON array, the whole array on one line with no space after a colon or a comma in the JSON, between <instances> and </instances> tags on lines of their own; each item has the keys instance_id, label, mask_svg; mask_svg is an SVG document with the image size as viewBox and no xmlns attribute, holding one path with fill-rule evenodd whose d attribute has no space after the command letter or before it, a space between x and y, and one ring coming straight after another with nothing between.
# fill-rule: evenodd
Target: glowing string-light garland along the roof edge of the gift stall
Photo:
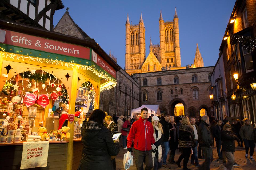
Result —
<instances>
[{"instance_id":1,"label":"glowing string-light garland along the roof edge of the gift stall","mask_svg":"<svg viewBox=\"0 0 256 170\"><path fill-rule=\"evenodd\" d=\"M30 61L36 61L39 63L49 63L49 64L55 64L55 65L59 65L59 66L65 66L67 68L73 68L74 66L77 66L78 69L81 70L89 70L91 72L93 72L95 75L97 75L98 77L101 77L103 79L105 79L106 81L110 81L112 84L117 84L117 80L111 78L109 75L107 75L106 73L104 73L103 71L99 71L95 65L79 65L76 62L70 61L70 62L64 62L62 60L52 60L52 59L45 59L45 58L39 58L39 57L31 57L29 55L27 56L23 56L23 55L19 55L18 52L16 54L14 53L6 53L4 48L1 48L0 51L0 55L3 55L3 57L5 58L10 58L11 60L22 60L25 61L28 60ZM108 89L113 88L115 86L111 85ZM103 88L104 90L107 89L106 87ZM102 92L103 90L100 89L100 91Z\"/></svg>"}]
</instances>

